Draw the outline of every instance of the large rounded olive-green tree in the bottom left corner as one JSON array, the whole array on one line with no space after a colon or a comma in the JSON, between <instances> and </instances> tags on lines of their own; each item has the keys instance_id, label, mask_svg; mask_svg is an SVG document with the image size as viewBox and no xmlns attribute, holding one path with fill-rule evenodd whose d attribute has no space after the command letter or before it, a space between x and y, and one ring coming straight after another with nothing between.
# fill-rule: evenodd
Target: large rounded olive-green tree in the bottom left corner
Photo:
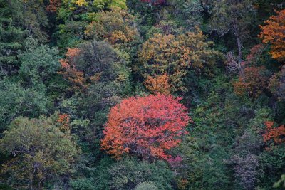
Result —
<instances>
[{"instance_id":1,"label":"large rounded olive-green tree in the bottom left corner","mask_svg":"<svg viewBox=\"0 0 285 190\"><path fill-rule=\"evenodd\" d=\"M9 184L41 189L47 181L71 174L78 148L60 126L52 117L43 116L31 120L18 117L11 122L0 141L1 148L11 154L1 169L1 174L10 174Z\"/></svg>"}]
</instances>

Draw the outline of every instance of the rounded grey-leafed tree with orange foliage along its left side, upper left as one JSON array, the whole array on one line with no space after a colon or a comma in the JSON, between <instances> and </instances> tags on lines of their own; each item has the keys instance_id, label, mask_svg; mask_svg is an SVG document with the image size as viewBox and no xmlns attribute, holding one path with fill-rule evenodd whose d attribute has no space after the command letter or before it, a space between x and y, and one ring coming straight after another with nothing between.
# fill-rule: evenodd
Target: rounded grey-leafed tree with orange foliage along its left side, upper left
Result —
<instances>
[{"instance_id":1,"label":"rounded grey-leafed tree with orange foliage along its left side, upper left","mask_svg":"<svg viewBox=\"0 0 285 190\"><path fill-rule=\"evenodd\" d=\"M69 48L66 59L61 59L61 74L73 90L86 91L92 83L115 80L128 81L126 61L107 43L92 41Z\"/></svg>"}]
</instances>

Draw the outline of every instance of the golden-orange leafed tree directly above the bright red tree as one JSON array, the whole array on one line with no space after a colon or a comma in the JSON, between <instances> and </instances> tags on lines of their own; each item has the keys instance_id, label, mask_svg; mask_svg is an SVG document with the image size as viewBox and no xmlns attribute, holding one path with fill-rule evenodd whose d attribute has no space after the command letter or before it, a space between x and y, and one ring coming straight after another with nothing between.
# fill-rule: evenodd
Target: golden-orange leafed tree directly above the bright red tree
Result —
<instances>
[{"instance_id":1,"label":"golden-orange leafed tree directly above the bright red tree","mask_svg":"<svg viewBox=\"0 0 285 190\"><path fill-rule=\"evenodd\" d=\"M198 70L212 65L219 55L206 38L199 29L179 36L155 34L142 44L142 51L138 54L142 75L153 78L166 73L173 91L185 90L182 77L186 75L187 68Z\"/></svg>"}]
</instances>

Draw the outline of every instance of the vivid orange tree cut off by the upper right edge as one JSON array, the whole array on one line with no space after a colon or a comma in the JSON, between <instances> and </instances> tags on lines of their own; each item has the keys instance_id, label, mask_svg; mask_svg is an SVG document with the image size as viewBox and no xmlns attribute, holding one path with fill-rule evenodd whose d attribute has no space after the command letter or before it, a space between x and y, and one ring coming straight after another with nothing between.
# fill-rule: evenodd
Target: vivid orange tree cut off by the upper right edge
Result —
<instances>
[{"instance_id":1,"label":"vivid orange tree cut off by the upper right edge","mask_svg":"<svg viewBox=\"0 0 285 190\"><path fill-rule=\"evenodd\" d=\"M285 9L276 11L276 16L271 16L261 27L259 38L263 43L271 43L270 54L279 61L285 60Z\"/></svg>"}]
</instances>

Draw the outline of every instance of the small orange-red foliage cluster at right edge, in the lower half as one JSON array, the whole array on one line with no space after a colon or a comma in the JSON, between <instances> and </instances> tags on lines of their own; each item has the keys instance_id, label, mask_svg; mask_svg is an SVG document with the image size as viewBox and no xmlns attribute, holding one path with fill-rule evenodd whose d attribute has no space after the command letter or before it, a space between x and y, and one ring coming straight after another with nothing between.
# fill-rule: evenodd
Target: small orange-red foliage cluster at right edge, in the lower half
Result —
<instances>
[{"instance_id":1,"label":"small orange-red foliage cluster at right edge, in the lower half","mask_svg":"<svg viewBox=\"0 0 285 190\"><path fill-rule=\"evenodd\" d=\"M266 125L266 133L263 134L264 142L273 141L277 144L285 142L285 125L280 125L279 127L273 127L274 122L264 122Z\"/></svg>"}]
</instances>

